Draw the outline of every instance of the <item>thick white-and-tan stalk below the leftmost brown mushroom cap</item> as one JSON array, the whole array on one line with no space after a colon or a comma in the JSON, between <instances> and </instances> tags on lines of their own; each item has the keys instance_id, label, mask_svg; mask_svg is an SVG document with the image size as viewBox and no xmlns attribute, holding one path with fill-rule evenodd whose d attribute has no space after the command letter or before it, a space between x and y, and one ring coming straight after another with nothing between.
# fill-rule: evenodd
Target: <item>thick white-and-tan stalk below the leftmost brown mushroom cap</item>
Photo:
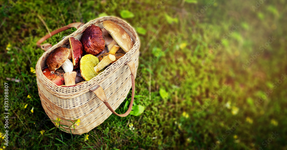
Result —
<instances>
[{"instance_id":1,"label":"thick white-and-tan stalk below the leftmost brown mushroom cap","mask_svg":"<svg viewBox=\"0 0 287 150\"><path fill-rule=\"evenodd\" d=\"M73 71L73 63L69 60L66 59L66 61L62 64L61 66L63 70L65 71L64 74L64 79L65 79L65 85L70 86L70 85L75 85L75 78L77 76L77 72Z\"/></svg>"}]
</instances>

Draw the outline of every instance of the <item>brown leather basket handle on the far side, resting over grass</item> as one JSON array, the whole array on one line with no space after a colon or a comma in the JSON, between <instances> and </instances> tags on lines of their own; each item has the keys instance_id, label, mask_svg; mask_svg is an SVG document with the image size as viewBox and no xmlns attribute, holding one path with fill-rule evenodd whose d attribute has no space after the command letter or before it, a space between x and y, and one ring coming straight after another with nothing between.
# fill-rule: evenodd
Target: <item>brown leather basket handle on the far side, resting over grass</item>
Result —
<instances>
[{"instance_id":1,"label":"brown leather basket handle on the far side, resting over grass","mask_svg":"<svg viewBox=\"0 0 287 150\"><path fill-rule=\"evenodd\" d=\"M54 30L53 32L51 32L51 34L46 34L44 37L42 37L40 40L38 40L38 42L36 44L42 50L47 51L50 47L52 47L52 44L50 44L50 43L41 44L42 42L44 42L45 40L47 40L48 38L50 38L51 36L53 36L59 32L65 31L65 30L72 28L72 27L78 29L83 25L84 25L84 23L82 23L82 22L74 22L74 23L68 24L67 26L63 26L62 28Z\"/></svg>"}]
</instances>

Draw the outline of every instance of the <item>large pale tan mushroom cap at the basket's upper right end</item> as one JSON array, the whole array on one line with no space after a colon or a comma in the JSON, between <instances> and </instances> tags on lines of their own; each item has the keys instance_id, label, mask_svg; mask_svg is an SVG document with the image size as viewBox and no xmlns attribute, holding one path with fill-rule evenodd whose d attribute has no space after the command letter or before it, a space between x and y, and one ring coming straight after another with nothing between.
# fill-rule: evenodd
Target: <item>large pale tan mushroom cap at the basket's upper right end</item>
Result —
<instances>
[{"instance_id":1,"label":"large pale tan mushroom cap at the basket's upper right end","mask_svg":"<svg viewBox=\"0 0 287 150\"><path fill-rule=\"evenodd\" d=\"M103 26L125 52L131 50L134 42L120 25L112 21L104 21Z\"/></svg>"}]
</instances>

